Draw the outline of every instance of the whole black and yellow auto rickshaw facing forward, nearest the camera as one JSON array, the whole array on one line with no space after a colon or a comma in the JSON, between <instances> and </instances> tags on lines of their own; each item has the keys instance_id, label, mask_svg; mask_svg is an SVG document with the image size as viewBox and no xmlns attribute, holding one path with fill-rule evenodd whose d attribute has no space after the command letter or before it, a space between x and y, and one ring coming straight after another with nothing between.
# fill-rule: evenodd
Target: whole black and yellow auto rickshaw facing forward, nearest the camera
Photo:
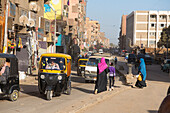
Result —
<instances>
[{"instance_id":1,"label":"whole black and yellow auto rickshaw facing forward, nearest the camera","mask_svg":"<svg viewBox=\"0 0 170 113\"><path fill-rule=\"evenodd\" d=\"M42 54L39 62L38 88L47 100L61 93L71 94L71 56L61 53Z\"/></svg>"}]
</instances>

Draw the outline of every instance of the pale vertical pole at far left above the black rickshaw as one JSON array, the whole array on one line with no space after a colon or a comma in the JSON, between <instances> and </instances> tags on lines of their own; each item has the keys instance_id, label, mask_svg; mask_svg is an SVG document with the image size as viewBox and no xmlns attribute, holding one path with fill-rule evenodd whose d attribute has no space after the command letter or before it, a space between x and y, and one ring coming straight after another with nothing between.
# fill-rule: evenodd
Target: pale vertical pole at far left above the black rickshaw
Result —
<instances>
[{"instance_id":1,"label":"pale vertical pole at far left above the black rickshaw","mask_svg":"<svg viewBox=\"0 0 170 113\"><path fill-rule=\"evenodd\" d=\"M4 34L4 47L3 47L3 53L7 53L7 38L8 38L8 6L9 0L6 2L6 11L5 11L5 34Z\"/></svg>"}]
</instances>

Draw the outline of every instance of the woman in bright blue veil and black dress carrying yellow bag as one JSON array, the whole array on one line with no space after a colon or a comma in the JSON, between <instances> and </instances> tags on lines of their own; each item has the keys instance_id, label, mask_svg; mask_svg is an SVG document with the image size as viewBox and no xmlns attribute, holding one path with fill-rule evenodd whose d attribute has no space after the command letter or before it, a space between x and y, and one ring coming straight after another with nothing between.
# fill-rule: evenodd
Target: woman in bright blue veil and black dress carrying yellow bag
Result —
<instances>
[{"instance_id":1,"label":"woman in bright blue veil and black dress carrying yellow bag","mask_svg":"<svg viewBox=\"0 0 170 113\"><path fill-rule=\"evenodd\" d=\"M138 68L138 73L141 76L142 80L138 79L135 86L139 87L139 88L146 87L146 83L145 83L145 80L146 80L146 67L145 67L145 61L144 61L143 58L140 58L140 65L139 65L139 68Z\"/></svg>"}]
</instances>

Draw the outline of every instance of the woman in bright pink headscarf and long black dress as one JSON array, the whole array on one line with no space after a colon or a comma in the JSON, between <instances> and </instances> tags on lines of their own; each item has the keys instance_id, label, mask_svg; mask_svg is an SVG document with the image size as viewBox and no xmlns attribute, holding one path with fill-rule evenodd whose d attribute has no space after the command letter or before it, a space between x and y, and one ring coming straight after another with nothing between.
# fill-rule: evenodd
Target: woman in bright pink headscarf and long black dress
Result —
<instances>
[{"instance_id":1,"label":"woman in bright pink headscarf and long black dress","mask_svg":"<svg viewBox=\"0 0 170 113\"><path fill-rule=\"evenodd\" d=\"M108 66L105 62L105 58L101 58L101 62L97 66L97 80L95 84L95 94L107 90L107 73Z\"/></svg>"}]
</instances>

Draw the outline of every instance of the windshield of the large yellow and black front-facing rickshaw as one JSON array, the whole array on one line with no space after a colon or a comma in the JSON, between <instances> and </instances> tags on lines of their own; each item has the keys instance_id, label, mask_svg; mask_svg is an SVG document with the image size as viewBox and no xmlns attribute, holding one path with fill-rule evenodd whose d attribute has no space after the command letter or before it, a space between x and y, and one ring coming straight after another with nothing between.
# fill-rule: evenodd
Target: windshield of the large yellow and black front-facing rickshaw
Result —
<instances>
[{"instance_id":1,"label":"windshield of the large yellow and black front-facing rickshaw","mask_svg":"<svg viewBox=\"0 0 170 113\"><path fill-rule=\"evenodd\" d=\"M66 69L65 58L42 57L41 68L50 70L65 70Z\"/></svg>"}]
</instances>

